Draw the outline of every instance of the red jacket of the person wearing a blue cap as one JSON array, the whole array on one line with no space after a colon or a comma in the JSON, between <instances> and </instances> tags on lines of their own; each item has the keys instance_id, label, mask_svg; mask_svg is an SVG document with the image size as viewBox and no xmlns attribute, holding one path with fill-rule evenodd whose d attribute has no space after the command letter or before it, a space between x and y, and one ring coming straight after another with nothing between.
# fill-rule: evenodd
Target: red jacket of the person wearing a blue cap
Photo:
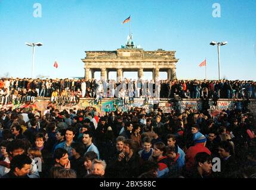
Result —
<instances>
[{"instance_id":1,"label":"red jacket of the person wearing a blue cap","mask_svg":"<svg viewBox=\"0 0 256 190\"><path fill-rule=\"evenodd\" d=\"M208 148L203 146L203 143L198 143L193 147L189 147L186 152L185 161L186 161L186 169L191 170L195 165L195 156L198 153L207 153L211 155L211 151Z\"/></svg>"}]
</instances>

